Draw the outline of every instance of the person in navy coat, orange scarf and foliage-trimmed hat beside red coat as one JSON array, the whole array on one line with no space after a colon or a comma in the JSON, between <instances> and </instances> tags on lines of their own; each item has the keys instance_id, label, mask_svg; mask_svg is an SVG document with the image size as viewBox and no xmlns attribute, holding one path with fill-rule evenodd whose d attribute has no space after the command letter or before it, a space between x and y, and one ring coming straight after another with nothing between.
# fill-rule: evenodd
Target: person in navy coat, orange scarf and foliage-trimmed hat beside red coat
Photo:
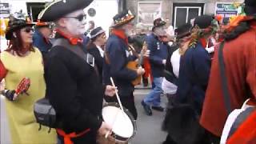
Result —
<instances>
[{"instance_id":1,"label":"person in navy coat, orange scarf and foliage-trimmed hat beside red coat","mask_svg":"<svg viewBox=\"0 0 256 144\"><path fill-rule=\"evenodd\" d=\"M202 111L210 74L210 54L206 45L212 34L217 32L218 24L210 15L202 15L194 20L191 34L190 48L186 50L180 65L177 98L179 102L186 102L194 98L198 114Z\"/></svg>"}]
</instances>

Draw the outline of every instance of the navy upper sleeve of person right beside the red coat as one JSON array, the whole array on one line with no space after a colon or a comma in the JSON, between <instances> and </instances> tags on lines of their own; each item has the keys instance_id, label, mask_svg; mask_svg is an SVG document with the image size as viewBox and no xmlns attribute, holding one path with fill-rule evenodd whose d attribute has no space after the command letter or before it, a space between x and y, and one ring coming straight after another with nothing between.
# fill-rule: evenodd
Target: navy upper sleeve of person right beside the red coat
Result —
<instances>
[{"instance_id":1,"label":"navy upper sleeve of person right beside the red coat","mask_svg":"<svg viewBox=\"0 0 256 144\"><path fill-rule=\"evenodd\" d=\"M210 77L210 57L202 51L194 53L193 65L195 74L198 76L198 82L202 86L207 86Z\"/></svg>"}]
</instances>

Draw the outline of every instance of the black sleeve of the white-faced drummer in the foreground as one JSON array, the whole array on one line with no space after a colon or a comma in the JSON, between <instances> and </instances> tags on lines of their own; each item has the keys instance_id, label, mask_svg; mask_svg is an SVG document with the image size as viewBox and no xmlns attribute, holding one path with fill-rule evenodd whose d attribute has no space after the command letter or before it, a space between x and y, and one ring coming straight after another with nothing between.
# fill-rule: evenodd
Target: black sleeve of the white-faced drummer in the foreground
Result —
<instances>
[{"instance_id":1,"label":"black sleeve of the white-faced drummer in the foreground","mask_svg":"<svg viewBox=\"0 0 256 144\"><path fill-rule=\"evenodd\" d=\"M46 71L47 95L63 122L76 130L98 130L102 121L81 106L78 100L77 84L70 77L63 62L50 59Z\"/></svg>"}]
</instances>

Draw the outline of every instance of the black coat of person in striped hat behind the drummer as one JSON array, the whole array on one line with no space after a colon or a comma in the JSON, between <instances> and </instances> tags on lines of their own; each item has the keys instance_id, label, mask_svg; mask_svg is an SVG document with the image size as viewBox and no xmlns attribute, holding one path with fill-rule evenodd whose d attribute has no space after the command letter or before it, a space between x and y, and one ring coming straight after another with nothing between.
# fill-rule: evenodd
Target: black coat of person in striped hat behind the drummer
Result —
<instances>
[{"instance_id":1,"label":"black coat of person in striped hat behind the drummer","mask_svg":"<svg viewBox=\"0 0 256 144\"><path fill-rule=\"evenodd\" d=\"M86 46L86 49L90 54L92 54L95 58L95 63L98 67L98 73L100 77L100 82L102 82L102 69L103 69L103 61L104 58L102 58L97 46L94 43L89 43L89 45Z\"/></svg>"}]
</instances>

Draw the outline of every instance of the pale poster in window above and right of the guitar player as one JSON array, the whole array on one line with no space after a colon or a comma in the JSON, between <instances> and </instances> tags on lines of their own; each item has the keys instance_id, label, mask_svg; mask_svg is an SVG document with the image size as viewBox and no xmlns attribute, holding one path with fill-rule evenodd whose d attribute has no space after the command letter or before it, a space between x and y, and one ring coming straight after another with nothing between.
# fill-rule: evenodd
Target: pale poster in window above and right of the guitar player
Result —
<instances>
[{"instance_id":1,"label":"pale poster in window above and right of the guitar player","mask_svg":"<svg viewBox=\"0 0 256 144\"><path fill-rule=\"evenodd\" d=\"M138 2L138 22L153 26L154 19L161 18L161 2Z\"/></svg>"}]
</instances>

